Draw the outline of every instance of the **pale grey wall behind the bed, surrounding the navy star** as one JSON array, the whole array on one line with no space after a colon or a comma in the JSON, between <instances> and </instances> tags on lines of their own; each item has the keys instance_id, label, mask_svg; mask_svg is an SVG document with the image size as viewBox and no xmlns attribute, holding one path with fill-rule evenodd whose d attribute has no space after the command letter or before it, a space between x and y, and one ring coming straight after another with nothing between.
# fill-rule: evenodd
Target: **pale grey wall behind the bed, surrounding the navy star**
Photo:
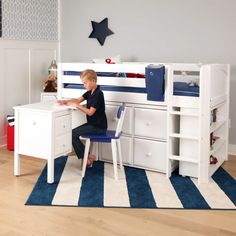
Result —
<instances>
[{"instance_id":1,"label":"pale grey wall behind the bed, surrounding the navy star","mask_svg":"<svg viewBox=\"0 0 236 236\"><path fill-rule=\"evenodd\" d=\"M236 145L235 0L61 0L61 61L120 54L124 61L230 63L230 143ZM100 46L91 21L114 32Z\"/></svg>"}]
</instances>

